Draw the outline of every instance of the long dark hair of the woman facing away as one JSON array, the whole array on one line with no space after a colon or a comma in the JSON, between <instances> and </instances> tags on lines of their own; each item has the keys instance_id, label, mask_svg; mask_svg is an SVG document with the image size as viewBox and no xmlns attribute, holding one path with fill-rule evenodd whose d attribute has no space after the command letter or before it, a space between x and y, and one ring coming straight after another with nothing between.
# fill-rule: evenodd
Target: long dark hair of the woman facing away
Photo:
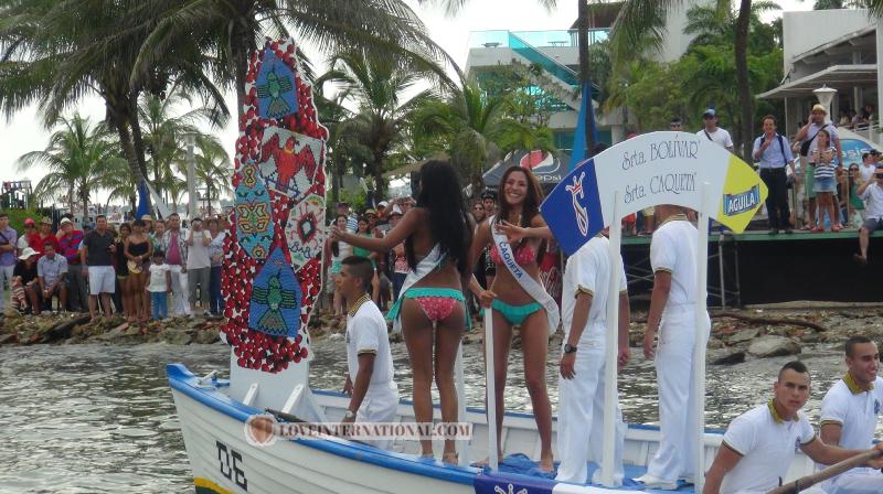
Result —
<instances>
[{"instance_id":1,"label":"long dark hair of the woman facing away","mask_svg":"<svg viewBox=\"0 0 883 494\"><path fill-rule=\"evenodd\" d=\"M457 269L466 275L469 269L467 257L472 244L472 228L469 226L460 180L450 163L437 160L424 163L421 168L417 207L425 207L429 212L428 227L442 254L456 259ZM412 237L405 239L405 255L411 269L415 269L417 259Z\"/></svg>"}]
</instances>

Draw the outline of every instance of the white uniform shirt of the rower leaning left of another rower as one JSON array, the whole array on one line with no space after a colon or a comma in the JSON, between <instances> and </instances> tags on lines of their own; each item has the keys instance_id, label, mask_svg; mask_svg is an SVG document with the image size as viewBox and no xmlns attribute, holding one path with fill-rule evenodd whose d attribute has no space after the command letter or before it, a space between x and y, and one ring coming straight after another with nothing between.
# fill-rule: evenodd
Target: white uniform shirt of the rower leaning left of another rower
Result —
<instances>
[{"instance_id":1,"label":"white uniform shirt of the rower leaning left of another rower","mask_svg":"<svg viewBox=\"0 0 883 494\"><path fill-rule=\"evenodd\" d=\"M773 402L736 417L726 429L724 444L742 455L721 484L721 494L765 493L788 473L797 449L816 439L806 417L783 420Z\"/></svg>"}]
</instances>

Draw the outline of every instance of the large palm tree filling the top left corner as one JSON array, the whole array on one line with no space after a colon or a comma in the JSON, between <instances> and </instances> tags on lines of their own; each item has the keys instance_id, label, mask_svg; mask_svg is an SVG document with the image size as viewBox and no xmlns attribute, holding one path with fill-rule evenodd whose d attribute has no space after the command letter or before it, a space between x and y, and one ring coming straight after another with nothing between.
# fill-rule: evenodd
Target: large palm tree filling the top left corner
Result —
<instances>
[{"instance_id":1,"label":"large palm tree filling the top left corner","mask_svg":"<svg viewBox=\"0 0 883 494\"><path fill-rule=\"evenodd\" d=\"M107 122L136 183L147 175L137 103L177 78L225 111L223 97L193 58L194 43L170 47L134 75L140 46L157 22L143 2L126 0L0 0L0 106L11 115L36 103L49 124L87 94L102 96ZM190 56L187 56L190 55Z\"/></svg>"}]
</instances>

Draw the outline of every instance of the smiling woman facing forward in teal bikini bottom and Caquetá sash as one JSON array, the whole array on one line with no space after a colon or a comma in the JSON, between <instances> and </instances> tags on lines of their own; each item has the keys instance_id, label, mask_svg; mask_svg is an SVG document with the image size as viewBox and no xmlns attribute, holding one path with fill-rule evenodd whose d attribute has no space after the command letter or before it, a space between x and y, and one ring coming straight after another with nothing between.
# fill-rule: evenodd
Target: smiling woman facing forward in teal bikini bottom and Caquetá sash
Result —
<instances>
[{"instance_id":1,"label":"smiling woman facing forward in teal bikini bottom and Caquet\u00e1 sash","mask_svg":"<svg viewBox=\"0 0 883 494\"><path fill-rule=\"evenodd\" d=\"M545 309L534 300L515 280L500 259L493 243L491 228L507 236L512 246L515 262L534 280L540 281L536 253L543 239L552 233L540 216L543 198L540 184L533 174L522 168L512 167L500 181L499 215L493 225L479 225L472 240L470 258L475 259L486 247L491 248L491 259L497 265L497 277L488 290L482 290L472 279L469 289L479 297L481 304L493 310L493 367L497 391L497 438L501 437L506 377L509 367L509 351L512 346L512 326L521 326L521 348L524 355L524 384L531 397L536 430L540 433L540 469L552 471L552 404L545 386L545 358L549 351L549 321ZM498 449L500 448L498 443ZM502 458L502 451L500 451Z\"/></svg>"}]
</instances>

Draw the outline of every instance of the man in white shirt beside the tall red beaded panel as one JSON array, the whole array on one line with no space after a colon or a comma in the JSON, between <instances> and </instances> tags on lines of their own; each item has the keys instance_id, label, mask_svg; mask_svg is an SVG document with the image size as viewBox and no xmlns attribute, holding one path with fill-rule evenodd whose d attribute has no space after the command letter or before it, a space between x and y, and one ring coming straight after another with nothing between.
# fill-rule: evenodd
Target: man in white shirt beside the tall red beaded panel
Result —
<instances>
[{"instance_id":1,"label":"man in white shirt beside the tall red beaded panel","mask_svg":"<svg viewBox=\"0 0 883 494\"><path fill-rule=\"evenodd\" d=\"M393 356L386 321L368 290L374 278L371 261L350 256L341 261L334 279L349 303L347 318L347 382L351 395L343 422L391 422L398 407L398 387L393 379ZM389 440L369 441L386 449Z\"/></svg>"}]
</instances>

